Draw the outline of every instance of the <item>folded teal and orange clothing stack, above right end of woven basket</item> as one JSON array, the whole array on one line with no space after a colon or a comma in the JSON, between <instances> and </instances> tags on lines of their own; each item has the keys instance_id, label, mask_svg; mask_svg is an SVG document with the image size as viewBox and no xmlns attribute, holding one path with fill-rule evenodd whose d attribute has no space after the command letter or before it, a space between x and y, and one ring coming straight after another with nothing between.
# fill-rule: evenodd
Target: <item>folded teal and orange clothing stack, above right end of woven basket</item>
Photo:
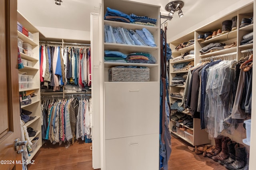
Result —
<instances>
[{"instance_id":1,"label":"folded teal and orange clothing stack, above right end of woven basket","mask_svg":"<svg viewBox=\"0 0 256 170\"><path fill-rule=\"evenodd\" d=\"M156 63L156 58L150 53L136 52L127 55L128 63Z\"/></svg>"}]
</instances>

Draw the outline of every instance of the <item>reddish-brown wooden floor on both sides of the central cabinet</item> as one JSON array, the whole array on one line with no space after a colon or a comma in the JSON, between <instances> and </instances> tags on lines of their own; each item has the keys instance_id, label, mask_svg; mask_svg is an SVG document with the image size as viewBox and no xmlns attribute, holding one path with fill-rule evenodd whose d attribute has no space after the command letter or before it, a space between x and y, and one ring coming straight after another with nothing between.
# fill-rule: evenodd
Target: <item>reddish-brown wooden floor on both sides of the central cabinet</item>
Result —
<instances>
[{"instance_id":1,"label":"reddish-brown wooden floor on both sides of the central cabinet","mask_svg":"<svg viewBox=\"0 0 256 170\"><path fill-rule=\"evenodd\" d=\"M65 145L46 142L32 160L28 170L93 170L91 143L79 140L65 148ZM224 166L211 158L197 155L188 150L188 144L172 136L172 153L168 170L225 170ZM121 170L121 169L120 169Z\"/></svg>"}]
</instances>

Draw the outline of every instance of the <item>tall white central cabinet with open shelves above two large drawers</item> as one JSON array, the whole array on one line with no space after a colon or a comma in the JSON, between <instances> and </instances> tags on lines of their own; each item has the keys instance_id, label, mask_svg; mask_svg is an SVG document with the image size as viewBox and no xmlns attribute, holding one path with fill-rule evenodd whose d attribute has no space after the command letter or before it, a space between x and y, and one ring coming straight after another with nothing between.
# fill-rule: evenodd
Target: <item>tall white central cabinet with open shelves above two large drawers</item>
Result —
<instances>
[{"instance_id":1,"label":"tall white central cabinet with open shelves above two large drawers","mask_svg":"<svg viewBox=\"0 0 256 170\"><path fill-rule=\"evenodd\" d=\"M156 26L104 20L106 7L156 18ZM102 170L156 170L159 167L160 6L129 0L103 0L100 16L91 15L91 23L93 168L98 168L95 159L100 157ZM128 30L146 28L157 46L104 43L105 24ZM126 54L148 52L156 58L156 63L104 62L106 49ZM108 70L117 65L146 66L150 69L150 81L108 81Z\"/></svg>"}]
</instances>

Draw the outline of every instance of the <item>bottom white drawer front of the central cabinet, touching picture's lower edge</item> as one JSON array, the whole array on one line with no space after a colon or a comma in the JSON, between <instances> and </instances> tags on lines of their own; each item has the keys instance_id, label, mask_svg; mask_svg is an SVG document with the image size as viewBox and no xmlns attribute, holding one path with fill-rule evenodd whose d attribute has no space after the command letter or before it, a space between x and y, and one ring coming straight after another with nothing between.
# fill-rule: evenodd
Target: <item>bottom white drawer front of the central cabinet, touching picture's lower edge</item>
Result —
<instances>
[{"instance_id":1,"label":"bottom white drawer front of the central cabinet, touching picture's lower edge","mask_svg":"<svg viewBox=\"0 0 256 170\"><path fill-rule=\"evenodd\" d=\"M157 170L159 135L105 140L106 170Z\"/></svg>"}]
</instances>

